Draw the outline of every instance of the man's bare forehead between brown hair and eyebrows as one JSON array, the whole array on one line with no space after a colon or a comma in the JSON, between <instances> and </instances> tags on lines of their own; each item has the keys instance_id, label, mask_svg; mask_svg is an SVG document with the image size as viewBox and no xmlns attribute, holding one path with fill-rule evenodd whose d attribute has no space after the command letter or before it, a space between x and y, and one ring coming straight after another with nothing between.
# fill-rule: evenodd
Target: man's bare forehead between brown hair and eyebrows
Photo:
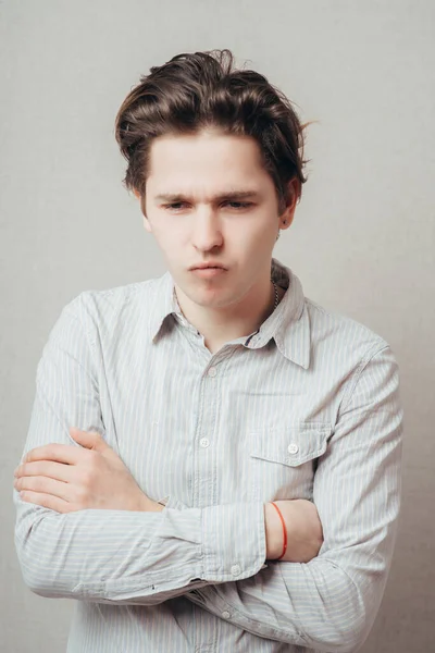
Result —
<instances>
[{"instance_id":1,"label":"man's bare forehead between brown hair and eyebrows","mask_svg":"<svg viewBox=\"0 0 435 653\"><path fill-rule=\"evenodd\" d=\"M249 136L216 131L160 136L150 148L147 192L213 192L222 187L254 187L272 180L264 170L258 143Z\"/></svg>"}]
</instances>

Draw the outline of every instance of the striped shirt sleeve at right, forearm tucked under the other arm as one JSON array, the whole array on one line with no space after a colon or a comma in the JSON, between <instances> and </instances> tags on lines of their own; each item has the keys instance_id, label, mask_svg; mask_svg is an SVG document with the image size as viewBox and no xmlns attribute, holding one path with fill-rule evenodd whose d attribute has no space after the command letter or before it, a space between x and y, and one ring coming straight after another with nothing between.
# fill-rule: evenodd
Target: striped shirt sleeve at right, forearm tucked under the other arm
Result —
<instances>
[{"instance_id":1,"label":"striped shirt sleeve at right, forearm tucked under the other arm","mask_svg":"<svg viewBox=\"0 0 435 653\"><path fill-rule=\"evenodd\" d=\"M314 475L319 556L194 590L194 603L257 636L316 651L350 652L364 641L390 566L401 485L398 369L388 346L376 349L353 374Z\"/></svg>"}]
</instances>

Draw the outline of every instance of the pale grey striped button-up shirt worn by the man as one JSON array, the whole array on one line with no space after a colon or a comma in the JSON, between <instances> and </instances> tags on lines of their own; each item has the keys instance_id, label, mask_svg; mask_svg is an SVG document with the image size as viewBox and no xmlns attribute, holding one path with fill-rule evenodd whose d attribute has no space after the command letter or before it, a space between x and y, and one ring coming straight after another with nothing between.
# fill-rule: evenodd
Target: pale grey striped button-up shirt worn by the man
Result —
<instances>
[{"instance_id":1,"label":"pale grey striped button-up shirt worn by the man","mask_svg":"<svg viewBox=\"0 0 435 653\"><path fill-rule=\"evenodd\" d=\"M65 306L37 369L24 453L100 432L162 513L25 503L25 582L75 599L69 653L353 651L376 615L400 504L402 412L388 344L286 293L211 354L170 273ZM24 454L23 454L24 455ZM313 501L324 543L265 563L265 502Z\"/></svg>"}]
</instances>

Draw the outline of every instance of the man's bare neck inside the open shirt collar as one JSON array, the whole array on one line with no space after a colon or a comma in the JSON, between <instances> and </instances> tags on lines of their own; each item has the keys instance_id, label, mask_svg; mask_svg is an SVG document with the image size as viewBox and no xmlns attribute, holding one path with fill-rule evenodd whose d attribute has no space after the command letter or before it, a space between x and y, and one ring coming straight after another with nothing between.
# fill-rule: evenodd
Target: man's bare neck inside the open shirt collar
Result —
<instances>
[{"instance_id":1,"label":"man's bare neck inside the open shirt collar","mask_svg":"<svg viewBox=\"0 0 435 653\"><path fill-rule=\"evenodd\" d=\"M269 278L252 286L239 301L219 308L195 304L177 286L175 292L183 315L203 335L212 354L225 343L257 331L275 305L275 289Z\"/></svg>"}]
</instances>

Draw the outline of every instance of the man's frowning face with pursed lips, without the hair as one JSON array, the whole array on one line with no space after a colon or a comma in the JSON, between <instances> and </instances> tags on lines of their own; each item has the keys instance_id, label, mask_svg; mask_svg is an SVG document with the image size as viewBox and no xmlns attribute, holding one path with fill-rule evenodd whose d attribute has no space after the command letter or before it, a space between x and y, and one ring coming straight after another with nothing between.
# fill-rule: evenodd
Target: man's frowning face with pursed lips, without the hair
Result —
<instances>
[{"instance_id":1,"label":"man's frowning face with pursed lips, without the hair","mask_svg":"<svg viewBox=\"0 0 435 653\"><path fill-rule=\"evenodd\" d=\"M279 218L253 138L207 131L152 143L145 226L178 296L215 309L254 301L256 288L270 278L278 227L289 226L293 212ZM206 264L213 267L198 268Z\"/></svg>"}]
</instances>

